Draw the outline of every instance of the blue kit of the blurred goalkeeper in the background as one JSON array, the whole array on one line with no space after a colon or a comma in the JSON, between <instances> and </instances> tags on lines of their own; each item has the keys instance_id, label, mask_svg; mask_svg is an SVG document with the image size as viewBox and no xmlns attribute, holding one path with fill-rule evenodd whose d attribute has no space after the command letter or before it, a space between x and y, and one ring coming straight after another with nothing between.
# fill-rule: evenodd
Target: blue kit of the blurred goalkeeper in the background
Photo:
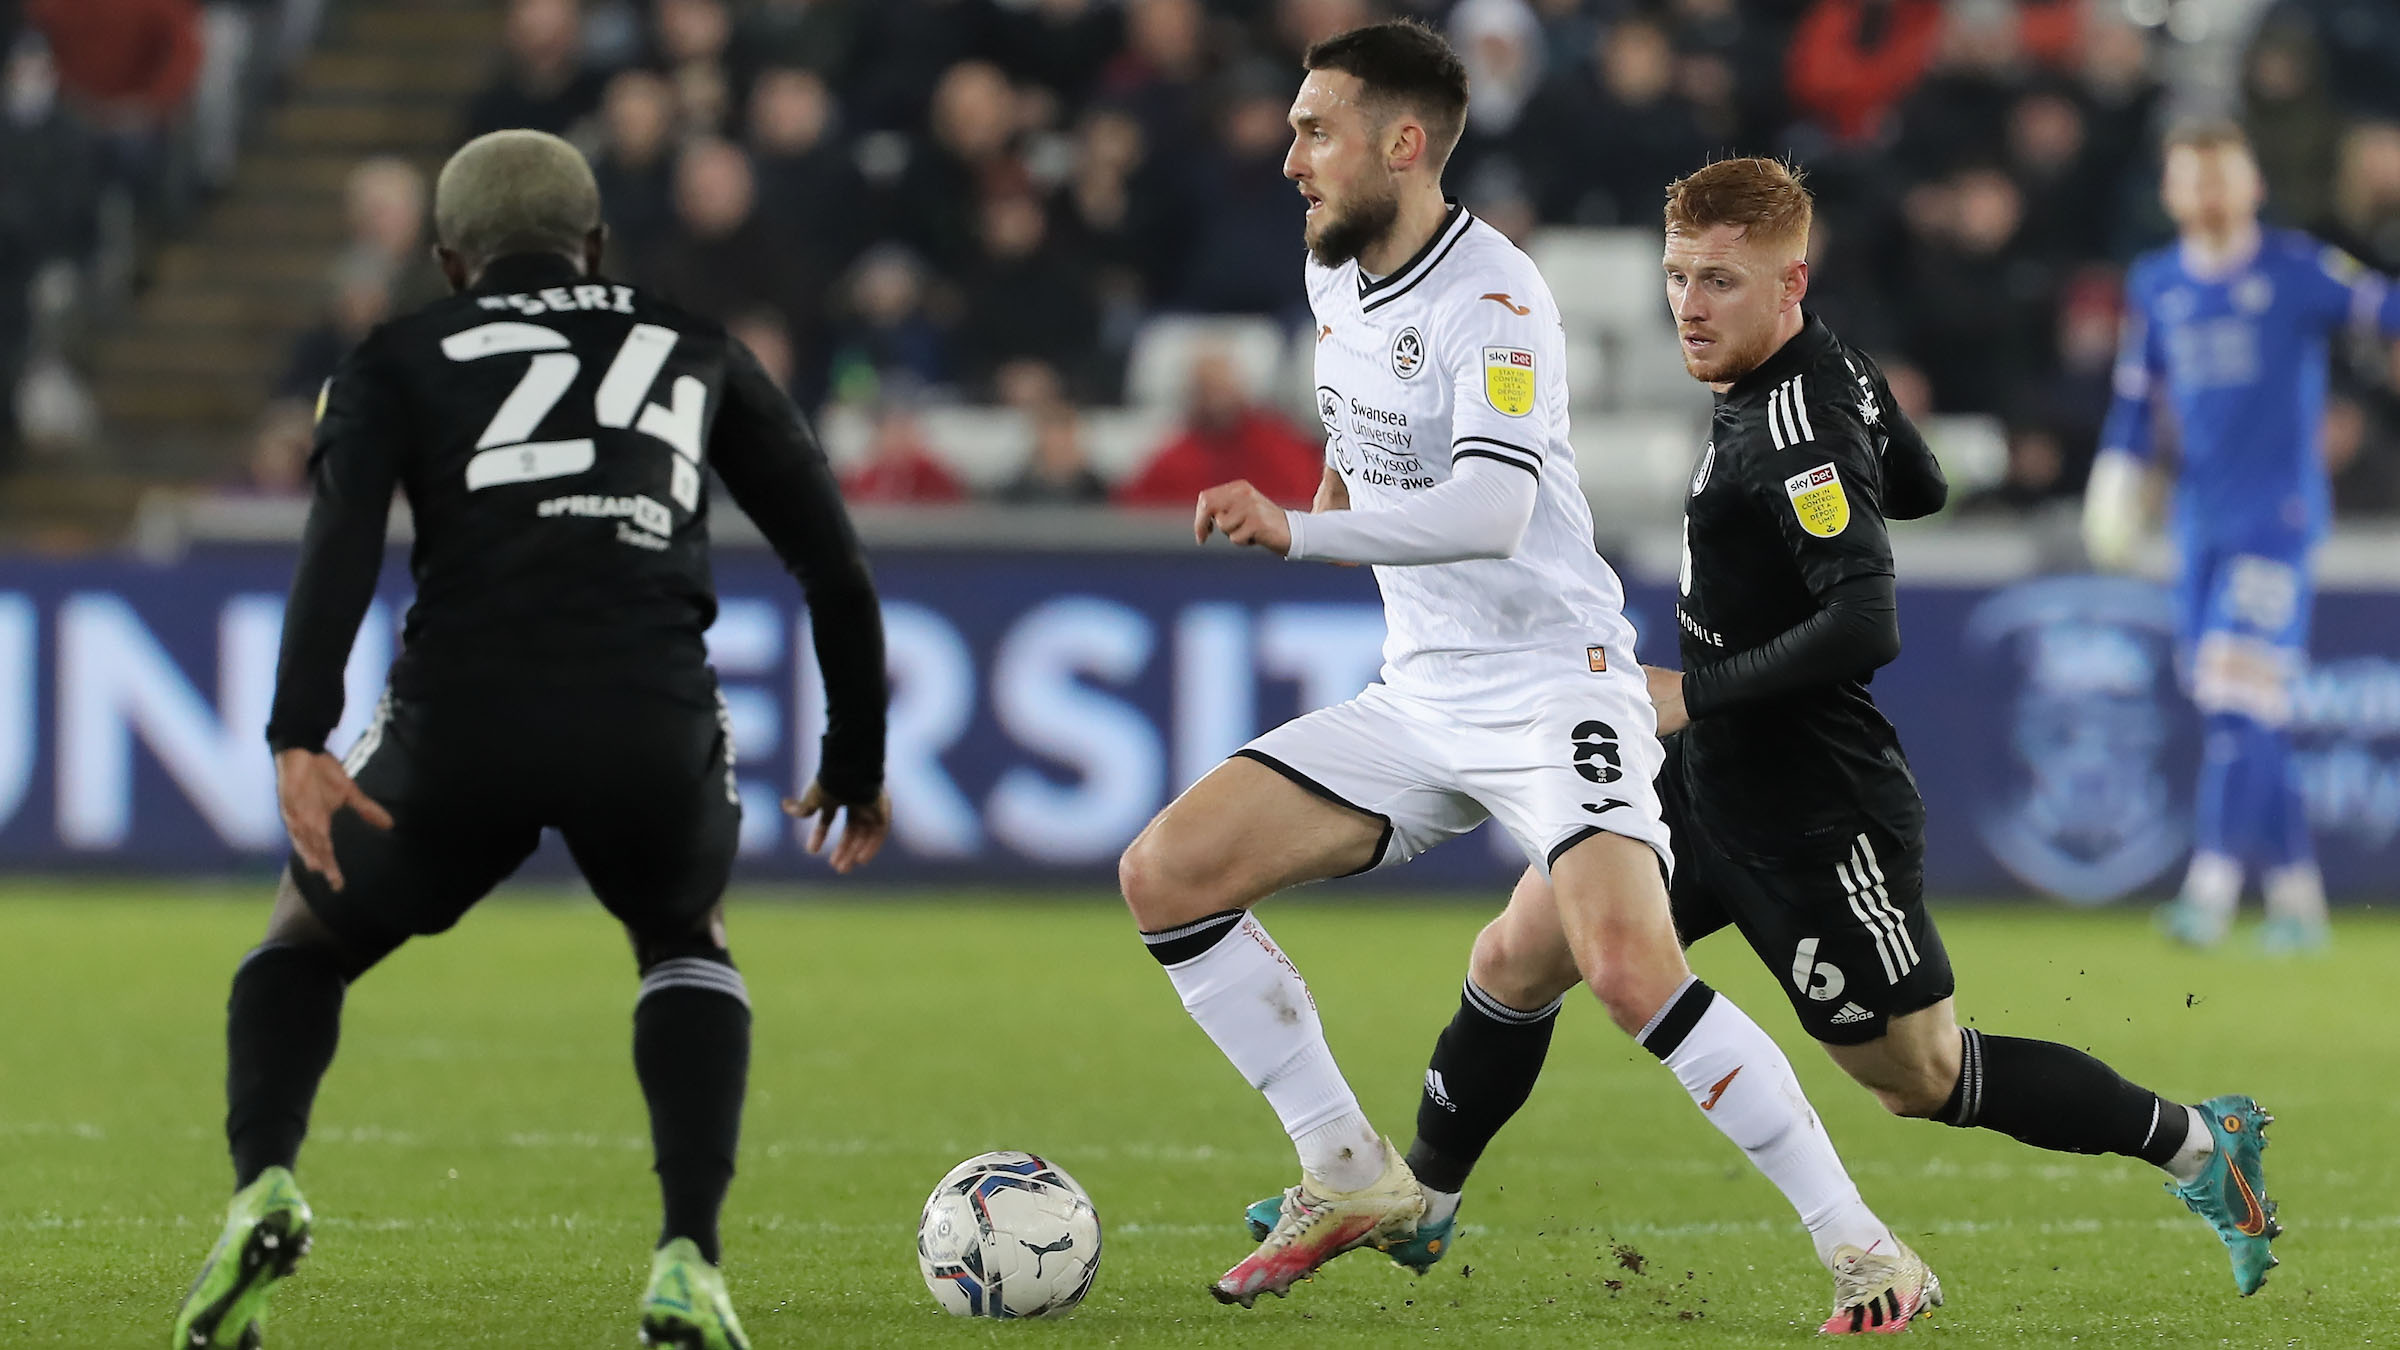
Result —
<instances>
[{"instance_id":1,"label":"blue kit of the blurred goalkeeper in the background","mask_svg":"<svg viewBox=\"0 0 2400 1350\"><path fill-rule=\"evenodd\" d=\"M2306 661L2309 552L2330 516L2326 365L2347 329L2400 334L2400 288L2299 231L2218 269L2170 245L2126 276L2102 454L2177 442L2182 665L2208 718L2196 848L2263 870L2314 860L2285 725Z\"/></svg>"}]
</instances>

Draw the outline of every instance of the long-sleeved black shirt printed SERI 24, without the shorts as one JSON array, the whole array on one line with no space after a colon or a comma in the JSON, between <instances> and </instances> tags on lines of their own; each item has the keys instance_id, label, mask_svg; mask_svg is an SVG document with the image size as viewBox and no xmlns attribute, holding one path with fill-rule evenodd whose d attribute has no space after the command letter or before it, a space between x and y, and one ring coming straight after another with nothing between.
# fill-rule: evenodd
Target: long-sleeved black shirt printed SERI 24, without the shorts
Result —
<instances>
[{"instance_id":1,"label":"long-sleeved black shirt printed SERI 24, without the shorts","mask_svg":"<svg viewBox=\"0 0 2400 1350\"><path fill-rule=\"evenodd\" d=\"M516 255L374 329L324 389L266 740L322 749L374 598L391 495L415 516L401 699L646 689L708 706L706 471L809 596L818 778L883 785L883 617L823 449L725 327L566 257Z\"/></svg>"}]
</instances>

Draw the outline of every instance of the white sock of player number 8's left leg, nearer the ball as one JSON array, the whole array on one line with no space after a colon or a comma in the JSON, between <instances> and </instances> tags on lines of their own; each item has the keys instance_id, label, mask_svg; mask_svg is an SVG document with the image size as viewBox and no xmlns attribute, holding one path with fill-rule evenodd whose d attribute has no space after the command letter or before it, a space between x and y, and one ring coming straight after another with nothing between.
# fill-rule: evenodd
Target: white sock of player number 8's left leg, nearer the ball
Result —
<instances>
[{"instance_id":1,"label":"white sock of player number 8's left leg, nearer the ball","mask_svg":"<svg viewBox=\"0 0 2400 1350\"><path fill-rule=\"evenodd\" d=\"M1186 932L1142 939L1157 949ZM1325 1045L1318 1002L1255 918L1241 915L1214 946L1166 966L1166 978L1200 1031L1253 1088L1267 1093L1267 1105L1301 1151L1301 1170L1332 1191L1356 1191L1382 1175L1382 1136L1358 1110L1358 1095Z\"/></svg>"}]
</instances>

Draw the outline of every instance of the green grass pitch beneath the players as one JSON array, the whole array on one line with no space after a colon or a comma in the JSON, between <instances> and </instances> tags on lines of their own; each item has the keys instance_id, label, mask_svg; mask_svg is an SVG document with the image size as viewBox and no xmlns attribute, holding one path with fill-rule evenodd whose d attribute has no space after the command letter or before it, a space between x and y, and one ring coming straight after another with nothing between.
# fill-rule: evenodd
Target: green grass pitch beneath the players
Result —
<instances>
[{"instance_id":1,"label":"green grass pitch beneath the players","mask_svg":"<svg viewBox=\"0 0 2400 1350\"><path fill-rule=\"evenodd\" d=\"M1334 1050L1402 1141L1483 903L1279 903ZM0 889L0 1345L163 1345L228 1189L223 990L254 891ZM1867 1199L1942 1271L1934 1345L2393 1340L2400 925L2330 958L2160 946L2131 913L1951 908L1985 1028L2090 1047L2172 1095L2251 1091L2282 1122L2285 1266L2237 1300L2215 1237L2119 1158L1896 1122L1802 1038L1747 949L1694 966L1793 1052ZM1114 903L763 903L734 949L758 1011L734 1297L794 1345L1802 1345L1829 1283L1783 1201L1649 1057L1574 999L1534 1103L1486 1158L1452 1261L1361 1254L1289 1302L1224 1309L1241 1206L1291 1179L1267 1107L1176 1006ZM631 1345L653 1237L629 1067L634 970L593 906L518 896L350 992L302 1182L317 1249L269 1345ZM984 1148L1094 1194L1109 1254L1063 1324L941 1316L917 1206ZM1618 1247L1637 1249L1630 1271ZM1471 1276L1469 1276L1471 1268Z\"/></svg>"}]
</instances>

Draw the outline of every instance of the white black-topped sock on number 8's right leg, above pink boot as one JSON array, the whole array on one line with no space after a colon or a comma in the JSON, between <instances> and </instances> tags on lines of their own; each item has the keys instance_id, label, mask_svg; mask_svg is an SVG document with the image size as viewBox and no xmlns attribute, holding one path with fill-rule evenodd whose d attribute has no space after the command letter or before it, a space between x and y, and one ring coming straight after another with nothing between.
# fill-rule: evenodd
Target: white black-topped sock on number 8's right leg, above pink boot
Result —
<instances>
[{"instance_id":1,"label":"white black-topped sock on number 8's right leg, above pink boot","mask_svg":"<svg viewBox=\"0 0 2400 1350\"><path fill-rule=\"evenodd\" d=\"M1709 1124L1783 1191L1817 1242L1819 1261L1831 1266L1836 1247L1872 1252L1891 1242L1891 1230L1858 1196L1834 1153L1790 1059L1733 999L1687 978L1637 1040L1675 1071Z\"/></svg>"}]
</instances>

